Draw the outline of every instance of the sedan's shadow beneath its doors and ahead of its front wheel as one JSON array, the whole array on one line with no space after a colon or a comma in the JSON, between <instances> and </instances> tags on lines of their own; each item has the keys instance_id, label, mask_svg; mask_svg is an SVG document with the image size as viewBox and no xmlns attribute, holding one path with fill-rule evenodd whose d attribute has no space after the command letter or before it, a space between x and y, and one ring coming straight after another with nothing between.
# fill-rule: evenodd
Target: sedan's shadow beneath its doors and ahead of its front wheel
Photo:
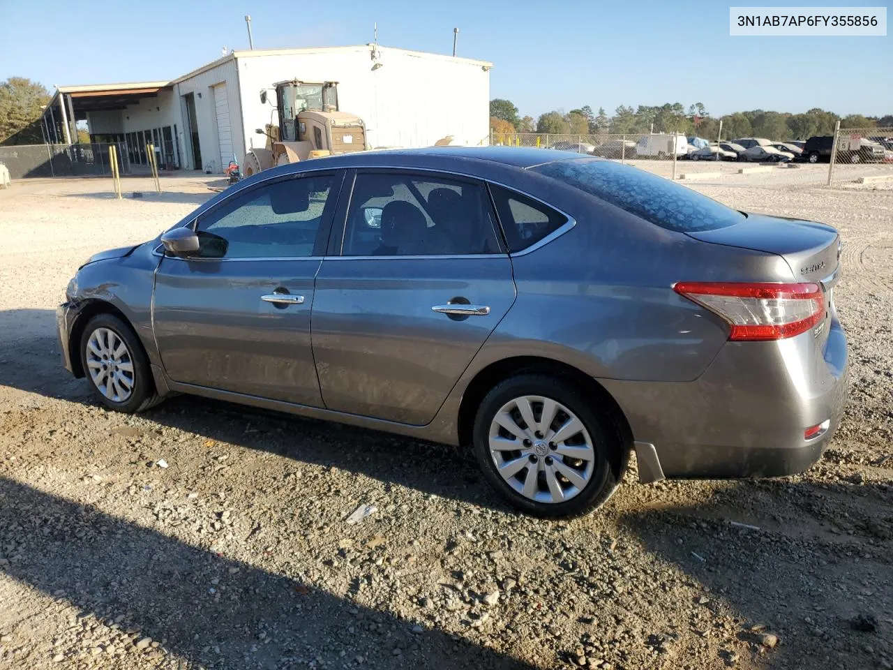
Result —
<instances>
[{"instance_id":1,"label":"sedan's shadow beneath its doors and ahead of its front wheel","mask_svg":"<svg viewBox=\"0 0 893 670\"><path fill-rule=\"evenodd\" d=\"M64 370L54 329L51 310L0 312L0 385L97 405L88 383ZM17 364L4 364L13 360ZM196 396L167 398L140 416L217 442L337 466L477 506L508 509L477 468L468 466L469 456L446 445ZM406 458L407 452L413 458Z\"/></svg>"}]
</instances>

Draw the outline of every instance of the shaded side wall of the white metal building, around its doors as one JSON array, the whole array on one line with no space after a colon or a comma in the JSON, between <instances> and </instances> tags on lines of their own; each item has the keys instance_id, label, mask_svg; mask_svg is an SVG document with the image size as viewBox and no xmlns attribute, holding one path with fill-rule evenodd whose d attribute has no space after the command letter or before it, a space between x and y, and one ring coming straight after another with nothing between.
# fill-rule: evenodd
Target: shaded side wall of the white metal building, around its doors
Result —
<instances>
[{"instance_id":1,"label":"shaded side wall of the white metal building, around its doors","mask_svg":"<svg viewBox=\"0 0 893 670\"><path fill-rule=\"evenodd\" d=\"M239 90L239 85L235 58L231 58L209 70L199 72L195 76L179 81L177 84L178 100L181 100L182 96L188 93L193 93L196 101L198 144L202 155L201 165L193 165L193 152L189 148L191 143L188 138L188 121L185 114L182 113L183 105L178 102L182 117L182 122L178 124L179 141L187 156L186 165L188 168L200 169L204 170L204 172L210 171L213 174L223 172L225 165L221 165L221 143L217 132L217 111L214 108L212 90L214 86L222 83L226 84L229 93L227 105L230 111L230 125L234 129L242 128L242 111L238 104L237 91ZM241 160L242 156L245 155L243 133L238 131L232 133L232 150L238 156L238 160Z\"/></svg>"}]
</instances>

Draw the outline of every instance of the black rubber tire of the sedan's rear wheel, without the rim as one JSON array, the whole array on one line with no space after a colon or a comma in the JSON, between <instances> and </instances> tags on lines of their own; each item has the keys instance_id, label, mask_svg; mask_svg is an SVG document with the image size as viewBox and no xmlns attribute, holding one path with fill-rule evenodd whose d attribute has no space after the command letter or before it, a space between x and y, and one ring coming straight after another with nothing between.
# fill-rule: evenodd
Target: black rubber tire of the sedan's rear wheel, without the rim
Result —
<instances>
[{"instance_id":1,"label":"black rubber tire of the sedan's rear wheel, without the rim","mask_svg":"<svg viewBox=\"0 0 893 670\"><path fill-rule=\"evenodd\" d=\"M506 403L523 396L552 398L567 407L577 415L592 440L595 451L593 472L586 486L573 498L559 503L526 498L497 472L497 465L490 456L490 425ZM591 512L611 497L622 474L622 440L613 428L611 416L598 411L584 398L586 395L568 381L547 374L522 373L498 383L481 401L472 433L475 456L490 486L510 505L535 516L574 516Z\"/></svg>"}]
</instances>

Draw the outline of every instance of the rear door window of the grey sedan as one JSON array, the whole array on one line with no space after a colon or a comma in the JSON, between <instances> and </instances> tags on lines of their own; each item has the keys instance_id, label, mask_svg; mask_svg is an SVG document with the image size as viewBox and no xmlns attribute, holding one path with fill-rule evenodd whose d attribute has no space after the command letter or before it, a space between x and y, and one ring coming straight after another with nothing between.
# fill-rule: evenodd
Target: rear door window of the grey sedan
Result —
<instances>
[{"instance_id":1,"label":"rear door window of the grey sedan","mask_svg":"<svg viewBox=\"0 0 893 670\"><path fill-rule=\"evenodd\" d=\"M487 192L471 181L359 173L342 255L465 255L500 251Z\"/></svg>"}]
</instances>

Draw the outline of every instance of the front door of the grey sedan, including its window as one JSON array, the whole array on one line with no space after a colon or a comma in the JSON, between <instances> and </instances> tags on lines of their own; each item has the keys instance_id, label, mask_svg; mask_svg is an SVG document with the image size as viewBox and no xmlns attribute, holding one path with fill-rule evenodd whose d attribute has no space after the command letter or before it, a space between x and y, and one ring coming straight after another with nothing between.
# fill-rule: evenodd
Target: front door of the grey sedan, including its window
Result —
<instances>
[{"instance_id":1,"label":"front door of the grey sedan, including its window","mask_svg":"<svg viewBox=\"0 0 893 670\"><path fill-rule=\"evenodd\" d=\"M198 217L194 257L163 257L153 328L172 381L322 406L310 312L343 180L262 181Z\"/></svg>"}]
</instances>

